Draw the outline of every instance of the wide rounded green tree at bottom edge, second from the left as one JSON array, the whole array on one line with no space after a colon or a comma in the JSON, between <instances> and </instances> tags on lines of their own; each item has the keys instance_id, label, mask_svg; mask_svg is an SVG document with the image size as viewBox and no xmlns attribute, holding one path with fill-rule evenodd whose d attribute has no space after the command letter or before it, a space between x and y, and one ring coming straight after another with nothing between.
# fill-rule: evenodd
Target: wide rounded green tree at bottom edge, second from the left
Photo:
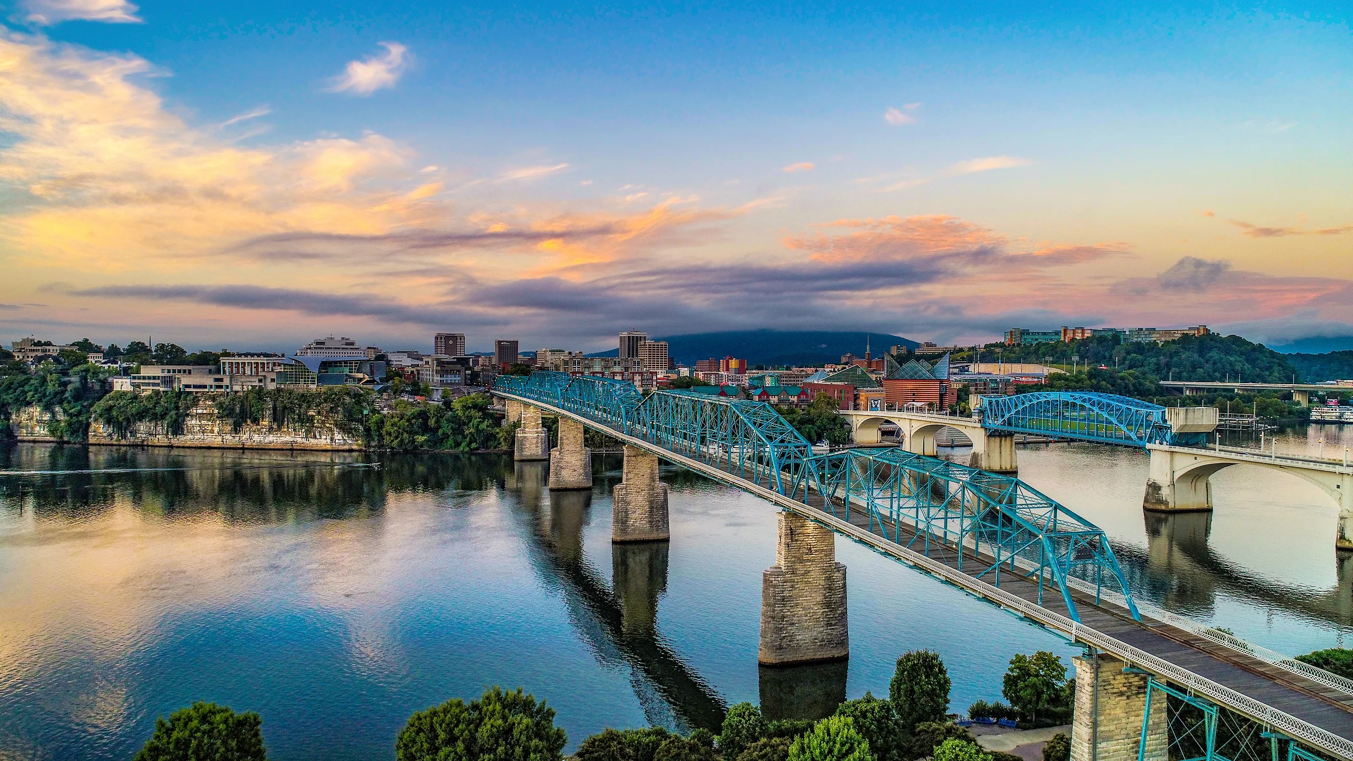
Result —
<instances>
[{"instance_id":1,"label":"wide rounded green tree at bottom edge, second from the left","mask_svg":"<svg viewBox=\"0 0 1353 761\"><path fill-rule=\"evenodd\" d=\"M465 705L453 699L418 711L395 738L396 761L560 761L568 738L555 710L534 696L484 691Z\"/></svg>"}]
</instances>

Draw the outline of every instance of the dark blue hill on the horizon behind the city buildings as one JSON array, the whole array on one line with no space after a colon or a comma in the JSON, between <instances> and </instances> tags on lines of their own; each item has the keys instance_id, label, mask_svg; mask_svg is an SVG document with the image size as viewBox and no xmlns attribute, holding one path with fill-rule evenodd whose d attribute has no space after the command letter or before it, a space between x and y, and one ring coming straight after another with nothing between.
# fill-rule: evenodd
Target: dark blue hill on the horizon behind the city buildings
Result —
<instances>
[{"instance_id":1,"label":"dark blue hill on the horizon behind the city buildings","mask_svg":"<svg viewBox=\"0 0 1353 761\"><path fill-rule=\"evenodd\" d=\"M720 333L689 333L659 336L667 341L667 351L679 364L694 366L709 357L735 356L748 364L817 366L840 362L842 355L865 356L866 336L874 356L882 356L889 347L905 345L915 349L920 344L889 333L829 332L829 330L725 330ZM620 349L587 356L616 356Z\"/></svg>"}]
</instances>

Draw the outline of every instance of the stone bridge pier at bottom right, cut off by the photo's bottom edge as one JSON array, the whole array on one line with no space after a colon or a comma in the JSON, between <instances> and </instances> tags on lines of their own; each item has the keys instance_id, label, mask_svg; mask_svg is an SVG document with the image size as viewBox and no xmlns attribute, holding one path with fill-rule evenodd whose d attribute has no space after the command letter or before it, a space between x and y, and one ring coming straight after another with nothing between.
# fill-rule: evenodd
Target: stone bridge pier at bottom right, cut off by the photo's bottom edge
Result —
<instances>
[{"instance_id":1,"label":"stone bridge pier at bottom right, cut off by the photo's bottom edge","mask_svg":"<svg viewBox=\"0 0 1353 761\"><path fill-rule=\"evenodd\" d=\"M1123 662L1105 654L1072 658L1076 664L1076 708L1072 719L1072 761L1165 761L1168 729L1165 696L1151 699L1146 714L1146 674L1124 673Z\"/></svg>"}]
</instances>

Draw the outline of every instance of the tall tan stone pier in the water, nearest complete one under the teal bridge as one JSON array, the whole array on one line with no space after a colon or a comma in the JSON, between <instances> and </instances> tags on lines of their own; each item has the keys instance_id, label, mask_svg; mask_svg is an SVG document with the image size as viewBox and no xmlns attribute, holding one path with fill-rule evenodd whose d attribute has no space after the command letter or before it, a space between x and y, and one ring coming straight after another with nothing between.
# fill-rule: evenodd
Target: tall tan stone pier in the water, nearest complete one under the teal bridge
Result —
<instances>
[{"instance_id":1,"label":"tall tan stone pier in the water, nearest complete one under the teal bridge","mask_svg":"<svg viewBox=\"0 0 1353 761\"><path fill-rule=\"evenodd\" d=\"M779 513L775 565L762 575L762 636L767 666L850 657L846 566L827 527Z\"/></svg>"}]
</instances>

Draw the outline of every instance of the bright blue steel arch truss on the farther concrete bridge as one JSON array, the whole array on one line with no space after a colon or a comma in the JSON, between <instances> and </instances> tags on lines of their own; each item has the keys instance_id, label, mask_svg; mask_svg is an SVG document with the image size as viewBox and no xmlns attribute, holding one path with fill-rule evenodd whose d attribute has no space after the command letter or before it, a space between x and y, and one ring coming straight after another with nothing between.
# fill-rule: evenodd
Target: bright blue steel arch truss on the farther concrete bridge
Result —
<instances>
[{"instance_id":1,"label":"bright blue steel arch truss on the farther concrete bridge","mask_svg":"<svg viewBox=\"0 0 1353 761\"><path fill-rule=\"evenodd\" d=\"M1105 444L1196 447L1207 433L1174 433L1165 408L1091 391L1035 391L982 397L982 427Z\"/></svg>"}]
</instances>

